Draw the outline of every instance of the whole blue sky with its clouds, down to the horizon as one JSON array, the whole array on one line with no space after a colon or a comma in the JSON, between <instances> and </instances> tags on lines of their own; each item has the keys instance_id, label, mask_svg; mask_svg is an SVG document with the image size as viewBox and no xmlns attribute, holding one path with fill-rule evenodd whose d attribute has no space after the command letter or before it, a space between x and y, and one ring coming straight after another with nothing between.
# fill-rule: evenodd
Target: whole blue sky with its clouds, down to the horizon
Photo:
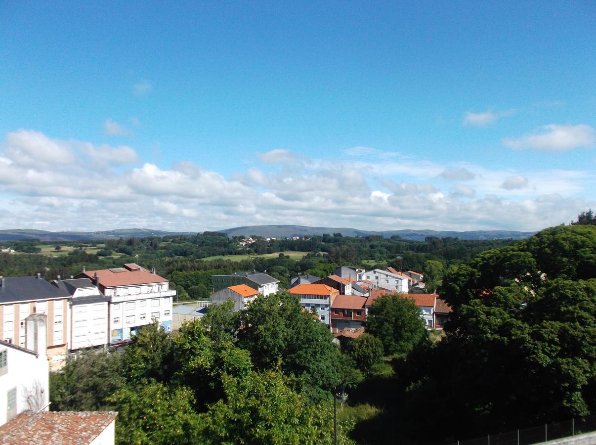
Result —
<instances>
[{"instance_id":1,"label":"whole blue sky with its clouds, down to the horizon","mask_svg":"<svg viewBox=\"0 0 596 445\"><path fill-rule=\"evenodd\" d=\"M296 3L0 6L0 228L596 207L594 2Z\"/></svg>"}]
</instances>

